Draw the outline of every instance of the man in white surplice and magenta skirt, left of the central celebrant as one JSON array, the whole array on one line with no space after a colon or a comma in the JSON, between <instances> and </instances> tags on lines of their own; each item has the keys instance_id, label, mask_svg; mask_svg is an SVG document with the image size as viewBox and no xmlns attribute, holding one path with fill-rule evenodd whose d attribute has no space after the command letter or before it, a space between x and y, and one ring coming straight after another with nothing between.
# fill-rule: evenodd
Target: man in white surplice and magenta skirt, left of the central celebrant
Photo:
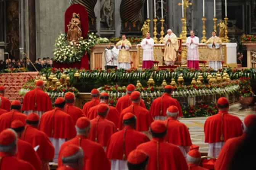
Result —
<instances>
[{"instance_id":1,"label":"man in white surplice and magenta skirt, left of the central celebrant","mask_svg":"<svg viewBox=\"0 0 256 170\"><path fill-rule=\"evenodd\" d=\"M147 32L147 37L141 41L141 47L143 49L142 69L150 69L154 67L154 39L150 38L149 32Z\"/></svg>"}]
</instances>

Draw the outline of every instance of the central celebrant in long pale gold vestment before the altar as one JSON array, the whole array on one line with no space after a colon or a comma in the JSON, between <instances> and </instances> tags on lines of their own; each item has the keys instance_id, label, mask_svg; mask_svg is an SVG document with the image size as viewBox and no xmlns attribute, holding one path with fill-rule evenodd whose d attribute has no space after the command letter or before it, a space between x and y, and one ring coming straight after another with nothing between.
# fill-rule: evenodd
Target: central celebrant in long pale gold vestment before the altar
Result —
<instances>
[{"instance_id":1,"label":"central celebrant in long pale gold vestment before the altar","mask_svg":"<svg viewBox=\"0 0 256 170\"><path fill-rule=\"evenodd\" d=\"M167 30L167 34L163 39L165 45L165 52L163 54L165 64L174 65L174 62L177 57L177 51L179 49L179 43L176 35L169 29Z\"/></svg>"}]
</instances>

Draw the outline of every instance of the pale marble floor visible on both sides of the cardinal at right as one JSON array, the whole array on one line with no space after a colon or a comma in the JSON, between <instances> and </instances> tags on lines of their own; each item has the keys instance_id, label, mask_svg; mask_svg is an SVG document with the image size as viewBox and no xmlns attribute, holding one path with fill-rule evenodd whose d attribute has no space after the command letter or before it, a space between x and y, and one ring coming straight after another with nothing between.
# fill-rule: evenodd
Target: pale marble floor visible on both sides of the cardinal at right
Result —
<instances>
[{"instance_id":1,"label":"pale marble floor visible on both sides of the cardinal at right","mask_svg":"<svg viewBox=\"0 0 256 170\"><path fill-rule=\"evenodd\" d=\"M241 111L241 105L235 104L230 106L229 113L235 116L238 116L242 121L246 115L255 114L255 111ZM195 145L200 146L199 150L202 153L208 152L208 143L205 143L205 135L203 132L203 126L205 124L205 120L207 117L200 117L200 118L182 118L180 121L185 123L186 126L189 128L190 136L192 143Z\"/></svg>"}]
</instances>

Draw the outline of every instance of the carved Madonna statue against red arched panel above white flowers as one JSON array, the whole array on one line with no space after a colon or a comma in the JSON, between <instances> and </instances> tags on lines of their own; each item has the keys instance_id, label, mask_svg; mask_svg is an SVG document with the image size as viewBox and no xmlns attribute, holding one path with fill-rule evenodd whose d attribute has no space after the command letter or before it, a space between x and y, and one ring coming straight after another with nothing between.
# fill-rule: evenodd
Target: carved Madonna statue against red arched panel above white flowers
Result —
<instances>
[{"instance_id":1,"label":"carved Madonna statue against red arched panel above white flowers","mask_svg":"<svg viewBox=\"0 0 256 170\"><path fill-rule=\"evenodd\" d=\"M79 14L73 13L73 17L67 25L67 39L76 42L82 36L81 22Z\"/></svg>"}]
</instances>

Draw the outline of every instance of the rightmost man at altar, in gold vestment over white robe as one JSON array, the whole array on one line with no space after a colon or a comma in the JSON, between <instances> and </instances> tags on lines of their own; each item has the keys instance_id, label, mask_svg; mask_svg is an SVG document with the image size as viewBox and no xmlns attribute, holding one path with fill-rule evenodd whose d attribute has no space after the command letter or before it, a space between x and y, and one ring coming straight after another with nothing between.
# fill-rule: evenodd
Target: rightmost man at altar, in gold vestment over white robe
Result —
<instances>
[{"instance_id":1,"label":"rightmost man at altar, in gold vestment over white robe","mask_svg":"<svg viewBox=\"0 0 256 170\"><path fill-rule=\"evenodd\" d=\"M215 31L213 31L212 35L213 36L205 42L208 47L209 68L218 71L218 69L222 69L221 38L216 36Z\"/></svg>"}]
</instances>

